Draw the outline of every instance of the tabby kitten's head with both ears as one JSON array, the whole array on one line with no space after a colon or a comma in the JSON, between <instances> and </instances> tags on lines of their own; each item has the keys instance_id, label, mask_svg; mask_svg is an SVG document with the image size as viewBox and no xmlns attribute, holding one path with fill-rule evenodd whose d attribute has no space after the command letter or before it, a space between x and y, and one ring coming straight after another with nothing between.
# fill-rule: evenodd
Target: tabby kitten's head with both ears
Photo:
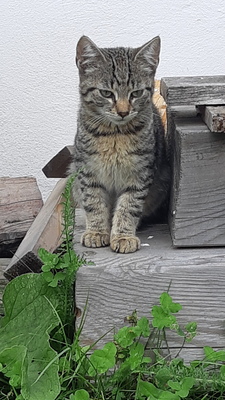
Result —
<instances>
[{"instance_id":1,"label":"tabby kitten's head with both ears","mask_svg":"<svg viewBox=\"0 0 225 400\"><path fill-rule=\"evenodd\" d=\"M149 107L159 63L157 36L136 48L99 48L88 37L77 44L83 105L99 120L121 125Z\"/></svg>"}]
</instances>

